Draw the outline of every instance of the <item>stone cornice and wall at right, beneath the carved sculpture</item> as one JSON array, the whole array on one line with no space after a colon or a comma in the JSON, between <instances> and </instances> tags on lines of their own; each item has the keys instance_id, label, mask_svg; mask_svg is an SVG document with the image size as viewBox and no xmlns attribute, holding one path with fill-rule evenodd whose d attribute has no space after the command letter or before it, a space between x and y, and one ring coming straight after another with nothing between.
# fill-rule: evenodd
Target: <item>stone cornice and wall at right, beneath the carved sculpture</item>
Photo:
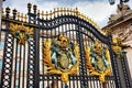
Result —
<instances>
[{"instance_id":1,"label":"stone cornice and wall at right, beneath the carved sculpture","mask_svg":"<svg viewBox=\"0 0 132 88\"><path fill-rule=\"evenodd\" d=\"M128 20L110 29L113 37L121 37L123 44L128 45L124 51L127 52L129 68L132 77L132 20Z\"/></svg>"}]
</instances>

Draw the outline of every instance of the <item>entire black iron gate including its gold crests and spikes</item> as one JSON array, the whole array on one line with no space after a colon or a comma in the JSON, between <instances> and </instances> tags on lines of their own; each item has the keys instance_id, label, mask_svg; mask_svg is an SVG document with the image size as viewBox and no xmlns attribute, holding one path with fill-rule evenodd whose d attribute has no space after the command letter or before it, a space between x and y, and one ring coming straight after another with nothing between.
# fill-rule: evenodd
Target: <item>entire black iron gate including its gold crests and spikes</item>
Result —
<instances>
[{"instance_id":1,"label":"entire black iron gate including its gold crests and spikes","mask_svg":"<svg viewBox=\"0 0 132 88\"><path fill-rule=\"evenodd\" d=\"M121 45L91 19L77 8L31 10L2 14L0 88L131 88Z\"/></svg>"}]
</instances>

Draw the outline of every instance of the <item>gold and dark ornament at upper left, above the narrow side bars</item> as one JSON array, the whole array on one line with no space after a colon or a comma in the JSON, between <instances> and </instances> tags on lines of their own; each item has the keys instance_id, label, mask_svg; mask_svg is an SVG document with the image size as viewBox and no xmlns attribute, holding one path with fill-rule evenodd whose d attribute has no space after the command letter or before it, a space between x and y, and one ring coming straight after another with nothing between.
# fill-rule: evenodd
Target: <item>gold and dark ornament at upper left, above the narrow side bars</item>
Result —
<instances>
[{"instance_id":1,"label":"gold and dark ornament at upper left, above the narrow side bars","mask_svg":"<svg viewBox=\"0 0 132 88\"><path fill-rule=\"evenodd\" d=\"M28 41L32 34L33 34L33 29L30 29L28 26L18 25L10 23L10 33L16 38L16 42L21 45L25 44L25 41Z\"/></svg>"}]
</instances>

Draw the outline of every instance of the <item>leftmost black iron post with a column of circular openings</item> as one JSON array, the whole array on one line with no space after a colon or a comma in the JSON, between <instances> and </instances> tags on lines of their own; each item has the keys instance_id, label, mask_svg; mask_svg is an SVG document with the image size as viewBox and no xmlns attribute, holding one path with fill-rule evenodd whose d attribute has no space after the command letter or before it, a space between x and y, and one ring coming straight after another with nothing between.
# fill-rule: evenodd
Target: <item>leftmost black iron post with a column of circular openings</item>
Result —
<instances>
[{"instance_id":1,"label":"leftmost black iron post with a column of circular openings","mask_svg":"<svg viewBox=\"0 0 132 88\"><path fill-rule=\"evenodd\" d=\"M3 64L2 64L2 75L1 75L1 85L0 88L11 88L11 76L12 76L12 63L13 63L13 41L14 37L9 34L9 22L6 23L6 42L4 42L4 52L3 52ZM8 50L11 50L10 52ZM10 62L9 62L10 61ZM8 72L7 72L8 70ZM9 76L6 79L6 76ZM7 84L4 84L7 82Z\"/></svg>"}]
</instances>

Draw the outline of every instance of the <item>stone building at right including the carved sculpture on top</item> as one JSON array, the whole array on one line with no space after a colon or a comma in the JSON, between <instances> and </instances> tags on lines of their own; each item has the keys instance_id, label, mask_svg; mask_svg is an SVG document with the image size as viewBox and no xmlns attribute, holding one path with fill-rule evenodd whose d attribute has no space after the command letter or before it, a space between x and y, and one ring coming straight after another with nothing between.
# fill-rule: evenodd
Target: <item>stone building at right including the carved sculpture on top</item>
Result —
<instances>
[{"instance_id":1,"label":"stone building at right including the carved sculpture on top","mask_svg":"<svg viewBox=\"0 0 132 88\"><path fill-rule=\"evenodd\" d=\"M127 52L129 69L132 77L132 9L124 3L117 6L117 13L111 14L108 25L103 30L109 31L113 37L121 37L127 47L123 51Z\"/></svg>"}]
</instances>

